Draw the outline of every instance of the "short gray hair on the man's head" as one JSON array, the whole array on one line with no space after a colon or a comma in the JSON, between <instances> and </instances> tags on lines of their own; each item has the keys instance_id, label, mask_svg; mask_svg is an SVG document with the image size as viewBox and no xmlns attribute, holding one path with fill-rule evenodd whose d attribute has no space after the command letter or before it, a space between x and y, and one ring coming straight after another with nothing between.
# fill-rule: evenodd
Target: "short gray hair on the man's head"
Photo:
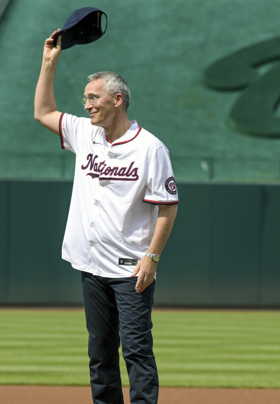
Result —
<instances>
[{"instance_id":1,"label":"short gray hair on the man's head","mask_svg":"<svg viewBox=\"0 0 280 404\"><path fill-rule=\"evenodd\" d=\"M87 77L87 82L103 78L104 90L108 94L121 93L123 95L123 109L127 112L130 100L130 90L127 82L117 73L114 72L98 72Z\"/></svg>"}]
</instances>

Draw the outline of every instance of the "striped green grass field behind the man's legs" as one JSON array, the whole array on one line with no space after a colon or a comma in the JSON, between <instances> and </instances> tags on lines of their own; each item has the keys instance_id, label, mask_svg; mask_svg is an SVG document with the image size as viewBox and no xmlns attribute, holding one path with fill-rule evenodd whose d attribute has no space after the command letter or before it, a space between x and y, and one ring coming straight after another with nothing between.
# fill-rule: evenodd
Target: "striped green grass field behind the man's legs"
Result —
<instances>
[{"instance_id":1,"label":"striped green grass field behind the man's legs","mask_svg":"<svg viewBox=\"0 0 280 404\"><path fill-rule=\"evenodd\" d=\"M89 385L83 310L0 310L0 384ZM280 312L153 311L161 386L280 387ZM123 385L128 385L121 358Z\"/></svg>"}]
</instances>

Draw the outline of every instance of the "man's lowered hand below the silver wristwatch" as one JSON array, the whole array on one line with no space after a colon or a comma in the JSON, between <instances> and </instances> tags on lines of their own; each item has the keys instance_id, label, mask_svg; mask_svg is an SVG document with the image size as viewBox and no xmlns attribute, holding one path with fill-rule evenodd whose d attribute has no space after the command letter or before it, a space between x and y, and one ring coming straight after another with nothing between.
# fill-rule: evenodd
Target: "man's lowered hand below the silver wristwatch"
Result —
<instances>
[{"instance_id":1,"label":"man's lowered hand below the silver wristwatch","mask_svg":"<svg viewBox=\"0 0 280 404\"><path fill-rule=\"evenodd\" d=\"M157 262L153 262L151 258L146 255L138 262L131 276L138 274L138 280L135 286L137 293L143 292L147 286L151 285L155 279L155 273L157 271Z\"/></svg>"}]
</instances>

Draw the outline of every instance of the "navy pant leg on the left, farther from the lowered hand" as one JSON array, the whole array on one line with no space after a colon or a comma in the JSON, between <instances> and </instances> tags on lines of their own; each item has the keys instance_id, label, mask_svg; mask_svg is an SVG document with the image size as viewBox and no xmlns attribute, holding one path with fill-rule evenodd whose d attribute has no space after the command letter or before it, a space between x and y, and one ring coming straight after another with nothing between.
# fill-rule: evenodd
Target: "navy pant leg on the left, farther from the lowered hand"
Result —
<instances>
[{"instance_id":1,"label":"navy pant leg on the left, farther from the lowered hand","mask_svg":"<svg viewBox=\"0 0 280 404\"><path fill-rule=\"evenodd\" d=\"M119 368L119 317L108 278L82 272L89 332L89 370L94 404L123 404Z\"/></svg>"}]
</instances>

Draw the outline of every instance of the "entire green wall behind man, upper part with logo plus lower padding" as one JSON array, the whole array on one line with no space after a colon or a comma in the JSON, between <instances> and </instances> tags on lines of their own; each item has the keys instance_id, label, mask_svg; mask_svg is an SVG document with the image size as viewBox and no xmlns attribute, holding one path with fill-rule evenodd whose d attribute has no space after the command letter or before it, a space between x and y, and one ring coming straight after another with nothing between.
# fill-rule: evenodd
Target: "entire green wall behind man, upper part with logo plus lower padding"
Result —
<instances>
[{"instance_id":1,"label":"entire green wall behind man, upper part with logo plus lower padding","mask_svg":"<svg viewBox=\"0 0 280 404\"><path fill-rule=\"evenodd\" d=\"M45 38L93 5L106 34L62 52L57 109L87 116L87 76L116 71L129 119L168 147L180 204L156 304L280 306L276 0L0 4L0 304L82 302L81 274L60 257L75 156L34 120L34 93Z\"/></svg>"}]
</instances>

